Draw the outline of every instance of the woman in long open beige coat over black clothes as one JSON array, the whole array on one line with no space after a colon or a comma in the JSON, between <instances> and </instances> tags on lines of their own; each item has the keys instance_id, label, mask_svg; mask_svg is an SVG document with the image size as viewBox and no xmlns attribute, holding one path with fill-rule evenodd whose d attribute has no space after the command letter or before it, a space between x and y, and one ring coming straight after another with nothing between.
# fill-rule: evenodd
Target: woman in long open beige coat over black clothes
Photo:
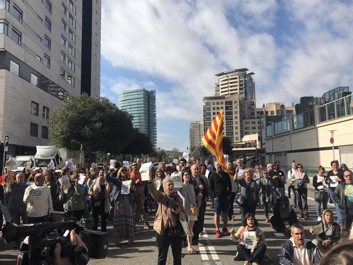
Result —
<instances>
[{"instance_id":1,"label":"woman in long open beige coat over black clothes","mask_svg":"<svg viewBox=\"0 0 353 265\"><path fill-rule=\"evenodd\" d=\"M110 208L110 191L111 186L104 179L104 170L100 170L98 178L92 181L89 189L89 194L91 195L90 205L94 218L93 230L98 229L98 216L100 215L102 232L106 231L106 216Z\"/></svg>"}]
</instances>

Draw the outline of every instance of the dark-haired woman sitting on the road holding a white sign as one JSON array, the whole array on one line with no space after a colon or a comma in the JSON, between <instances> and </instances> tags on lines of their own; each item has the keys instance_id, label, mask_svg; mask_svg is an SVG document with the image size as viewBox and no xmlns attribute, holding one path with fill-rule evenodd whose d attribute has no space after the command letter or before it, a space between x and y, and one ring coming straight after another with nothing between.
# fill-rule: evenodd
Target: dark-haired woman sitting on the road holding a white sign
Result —
<instances>
[{"instance_id":1,"label":"dark-haired woman sitting on the road holding a white sign","mask_svg":"<svg viewBox=\"0 0 353 265\"><path fill-rule=\"evenodd\" d=\"M256 235L256 247L254 249L247 249L245 245L244 232L251 231L255 232ZM239 244L237 246L238 252L234 260L246 260L244 264L257 265L257 262L262 260L267 249L267 242L264 233L260 228L258 228L258 222L251 213L247 213L244 216L243 226L240 227L236 233L234 228L230 230L230 239L233 241L239 240Z\"/></svg>"}]
</instances>

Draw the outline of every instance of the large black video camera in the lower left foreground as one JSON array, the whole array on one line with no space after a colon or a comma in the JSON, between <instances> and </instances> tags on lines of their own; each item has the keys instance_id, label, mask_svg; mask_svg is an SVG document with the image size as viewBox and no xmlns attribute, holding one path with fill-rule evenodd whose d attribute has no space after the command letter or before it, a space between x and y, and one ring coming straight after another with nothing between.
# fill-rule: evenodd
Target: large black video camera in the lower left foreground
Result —
<instances>
[{"instance_id":1,"label":"large black video camera in the lower left foreground","mask_svg":"<svg viewBox=\"0 0 353 265\"><path fill-rule=\"evenodd\" d=\"M64 218L60 223L7 223L3 228L3 235L7 244L17 238L26 237L18 251L17 265L54 264L54 249L57 243L61 245L61 257L68 257L73 264L85 265L90 258L105 258L108 251L108 233L84 230L87 224L91 223L92 218L82 218L78 222L76 218ZM66 231L56 239L46 239L47 232L55 229ZM70 231L73 229L81 237L89 250L88 253L83 247L71 245Z\"/></svg>"}]
</instances>

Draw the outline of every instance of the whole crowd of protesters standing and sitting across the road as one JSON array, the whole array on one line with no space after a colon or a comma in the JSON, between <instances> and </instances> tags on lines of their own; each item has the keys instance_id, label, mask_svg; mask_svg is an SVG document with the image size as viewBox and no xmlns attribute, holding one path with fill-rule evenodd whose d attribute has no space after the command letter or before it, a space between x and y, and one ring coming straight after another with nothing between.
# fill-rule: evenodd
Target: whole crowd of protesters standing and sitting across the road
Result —
<instances>
[{"instance_id":1,"label":"whole crowd of protesters standing and sitting across the road","mask_svg":"<svg viewBox=\"0 0 353 265\"><path fill-rule=\"evenodd\" d=\"M141 159L137 159L128 168L119 162L113 168L104 163L101 169L92 167L85 171L77 166L72 170L64 167L60 174L50 169L39 169L32 174L29 170L16 173L5 169L0 177L1 220L4 217L4 223L14 224L20 224L20 220L23 224L49 222L53 210L63 211L76 219L92 214L94 230L98 229L99 217L103 232L107 222L113 222L114 244L118 246L126 240L130 246L134 244L139 219L143 228L152 229L147 214L154 204L153 229L157 233L159 265L166 263L169 246L175 265L181 264L183 246L189 253L198 254L193 246L205 245L200 235L204 231L208 202L214 212L215 237L230 236L238 241L234 260L245 260L245 264L258 264L267 250L266 238L256 219L256 213L262 210L256 210L257 207L263 207L265 223L270 223L275 231L291 236L282 245L280 264L319 264L322 254L337 253L332 250L336 251L336 245L350 234L352 171L344 164L340 167L336 160L331 162L333 169L327 174L325 168L319 166L312 184L303 165L295 161L286 173L279 161L269 163L264 170L256 165L253 171L237 159L234 165L227 164L227 172L217 161L206 160L203 165L198 159L189 163L181 158L178 165L160 162L149 181L142 181L141 165ZM80 184L82 175L85 178ZM63 176L69 177L69 188L64 189L60 183ZM175 178L182 179L181 187L174 187ZM129 189L123 185L128 185ZM286 185L289 196L285 196ZM301 219L310 218L308 185L315 189L317 221L322 227L312 241L305 239L300 224ZM291 195L293 204L289 200ZM329 200L334 203L335 211L327 208ZM238 209L242 226L237 231L228 231L228 221L235 218L234 212ZM248 232L255 234L255 245L249 249ZM19 240L14 247L18 248L18 245Z\"/></svg>"}]
</instances>

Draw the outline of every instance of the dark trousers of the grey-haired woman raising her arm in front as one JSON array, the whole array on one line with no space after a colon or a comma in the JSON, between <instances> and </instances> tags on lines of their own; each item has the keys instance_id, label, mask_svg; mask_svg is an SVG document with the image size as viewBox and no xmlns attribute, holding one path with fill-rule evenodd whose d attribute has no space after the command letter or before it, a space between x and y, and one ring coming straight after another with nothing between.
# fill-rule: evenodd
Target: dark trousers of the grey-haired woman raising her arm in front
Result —
<instances>
[{"instance_id":1,"label":"dark trousers of the grey-haired woman raising her arm in front","mask_svg":"<svg viewBox=\"0 0 353 265\"><path fill-rule=\"evenodd\" d=\"M156 239L158 243L157 265L166 264L169 245L171 245L171 252L173 254L173 265L181 265L183 237L157 234Z\"/></svg>"}]
</instances>

